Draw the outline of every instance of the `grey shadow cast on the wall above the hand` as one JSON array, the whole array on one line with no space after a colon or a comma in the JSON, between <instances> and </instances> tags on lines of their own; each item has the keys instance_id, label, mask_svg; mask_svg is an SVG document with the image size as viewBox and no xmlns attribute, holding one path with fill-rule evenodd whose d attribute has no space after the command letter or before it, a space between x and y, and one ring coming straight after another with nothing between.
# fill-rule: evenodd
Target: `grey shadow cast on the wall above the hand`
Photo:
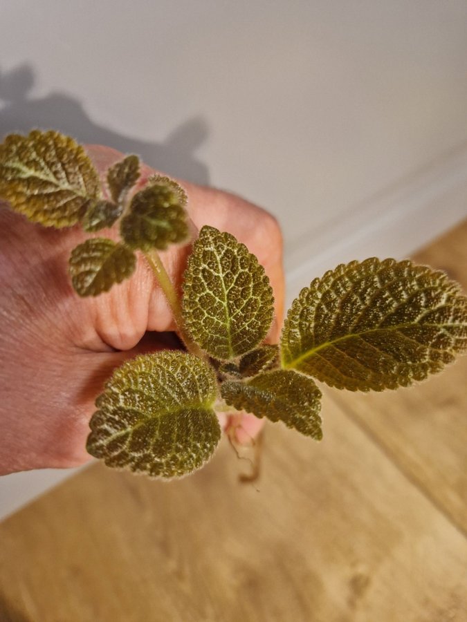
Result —
<instances>
[{"instance_id":1,"label":"grey shadow cast on the wall above the hand","mask_svg":"<svg viewBox=\"0 0 467 622\"><path fill-rule=\"evenodd\" d=\"M208 184L208 167L194 156L209 133L202 117L187 120L162 143L145 142L95 124L81 102L70 95L31 97L34 82L34 71L27 64L8 73L0 68L0 136L15 131L28 133L33 128L57 129L81 143L105 144L123 153L136 153L149 166L174 177Z\"/></svg>"}]
</instances>

